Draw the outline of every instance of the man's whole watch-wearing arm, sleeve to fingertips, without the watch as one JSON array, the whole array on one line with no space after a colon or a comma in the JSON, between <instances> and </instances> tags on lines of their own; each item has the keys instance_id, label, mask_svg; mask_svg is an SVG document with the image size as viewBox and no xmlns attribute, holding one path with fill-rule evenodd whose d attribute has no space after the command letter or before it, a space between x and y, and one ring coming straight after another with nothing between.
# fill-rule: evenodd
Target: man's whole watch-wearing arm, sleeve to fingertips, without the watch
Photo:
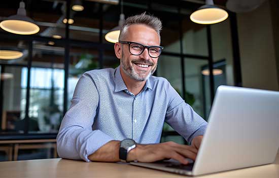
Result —
<instances>
[{"instance_id":1,"label":"man's whole watch-wearing arm, sleeve to fingertips, without the watch","mask_svg":"<svg viewBox=\"0 0 279 178\"><path fill-rule=\"evenodd\" d=\"M90 90L88 90L90 88ZM92 79L83 75L77 84L72 105L65 114L58 136L57 151L60 157L85 161L118 162L120 141L113 140L99 130L92 131L98 93ZM176 159L187 164L185 158L195 159L193 146L174 142L138 144L128 154L128 160L153 162Z\"/></svg>"}]
</instances>

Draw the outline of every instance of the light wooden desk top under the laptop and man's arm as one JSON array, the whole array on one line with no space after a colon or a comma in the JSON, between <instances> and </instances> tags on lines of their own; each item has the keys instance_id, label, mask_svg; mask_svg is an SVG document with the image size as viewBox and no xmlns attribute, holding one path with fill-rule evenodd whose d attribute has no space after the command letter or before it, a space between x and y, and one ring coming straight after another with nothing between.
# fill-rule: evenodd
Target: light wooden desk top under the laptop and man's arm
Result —
<instances>
[{"instance_id":1,"label":"light wooden desk top under the laptop and man's arm","mask_svg":"<svg viewBox=\"0 0 279 178\"><path fill-rule=\"evenodd\" d=\"M126 163L86 163L61 158L0 162L0 177L187 177L163 171L128 165ZM279 154L273 164L226 171L197 177L279 177Z\"/></svg>"}]
</instances>

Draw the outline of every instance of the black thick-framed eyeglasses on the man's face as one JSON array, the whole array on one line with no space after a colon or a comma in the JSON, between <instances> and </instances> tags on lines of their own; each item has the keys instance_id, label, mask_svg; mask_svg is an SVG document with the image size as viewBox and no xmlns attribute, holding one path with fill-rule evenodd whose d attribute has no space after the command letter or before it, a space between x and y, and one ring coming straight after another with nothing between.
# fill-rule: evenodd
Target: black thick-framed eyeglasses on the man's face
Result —
<instances>
[{"instance_id":1,"label":"black thick-framed eyeglasses on the man's face","mask_svg":"<svg viewBox=\"0 0 279 178\"><path fill-rule=\"evenodd\" d=\"M129 44L129 51L133 55L141 55L144 52L145 48L147 48L149 56L153 58L159 57L164 48L162 46L145 46L141 43L130 41L119 41L119 43Z\"/></svg>"}]
</instances>

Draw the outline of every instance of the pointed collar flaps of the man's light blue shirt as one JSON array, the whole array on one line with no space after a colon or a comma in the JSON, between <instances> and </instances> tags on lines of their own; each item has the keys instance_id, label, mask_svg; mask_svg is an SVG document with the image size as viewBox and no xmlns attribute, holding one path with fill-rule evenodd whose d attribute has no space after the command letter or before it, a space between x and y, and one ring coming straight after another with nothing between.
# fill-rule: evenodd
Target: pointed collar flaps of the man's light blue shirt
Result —
<instances>
[{"instance_id":1,"label":"pointed collar flaps of the man's light blue shirt","mask_svg":"<svg viewBox=\"0 0 279 178\"><path fill-rule=\"evenodd\" d=\"M118 66L115 69L114 76L115 76L115 90L114 90L114 92L120 92L120 91L128 90L128 88L125 85L125 83L123 81L123 78L121 76L120 66ZM150 77L147 79L146 84L145 84L145 86L143 88L143 91L145 91L147 88L149 88L150 90L153 90L153 88L151 86Z\"/></svg>"}]
</instances>

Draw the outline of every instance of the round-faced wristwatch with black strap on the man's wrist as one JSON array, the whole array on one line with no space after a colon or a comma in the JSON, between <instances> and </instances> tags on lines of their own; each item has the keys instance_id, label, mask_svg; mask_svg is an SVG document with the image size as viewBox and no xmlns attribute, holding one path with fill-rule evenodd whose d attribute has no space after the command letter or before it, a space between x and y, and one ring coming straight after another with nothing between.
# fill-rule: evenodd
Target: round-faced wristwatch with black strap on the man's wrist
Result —
<instances>
[{"instance_id":1,"label":"round-faced wristwatch with black strap on the man's wrist","mask_svg":"<svg viewBox=\"0 0 279 178\"><path fill-rule=\"evenodd\" d=\"M127 162L128 153L133 150L136 146L136 142L133 139L124 139L120 142L119 147L119 159L122 162Z\"/></svg>"}]
</instances>

